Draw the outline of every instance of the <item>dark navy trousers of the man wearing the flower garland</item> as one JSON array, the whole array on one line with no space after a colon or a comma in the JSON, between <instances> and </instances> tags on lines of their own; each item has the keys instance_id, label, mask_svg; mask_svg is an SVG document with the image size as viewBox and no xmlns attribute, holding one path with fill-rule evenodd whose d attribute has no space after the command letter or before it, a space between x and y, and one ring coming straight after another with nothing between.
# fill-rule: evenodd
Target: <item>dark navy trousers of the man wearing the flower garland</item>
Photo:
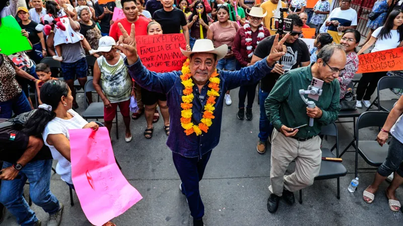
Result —
<instances>
[{"instance_id":1,"label":"dark navy trousers of the man wearing the flower garland","mask_svg":"<svg viewBox=\"0 0 403 226\"><path fill-rule=\"evenodd\" d=\"M194 219L200 219L205 214L205 206L201 201L198 182L203 179L211 152L210 150L201 159L198 157L186 158L177 153L172 153L173 163L182 181L182 193L186 195L190 215Z\"/></svg>"}]
</instances>

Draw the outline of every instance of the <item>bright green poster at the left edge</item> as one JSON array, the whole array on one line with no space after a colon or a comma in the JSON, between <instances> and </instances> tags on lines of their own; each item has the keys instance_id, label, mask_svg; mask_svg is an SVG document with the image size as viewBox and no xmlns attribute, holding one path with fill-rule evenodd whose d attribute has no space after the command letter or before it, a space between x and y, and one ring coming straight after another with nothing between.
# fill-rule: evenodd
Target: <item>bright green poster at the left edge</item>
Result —
<instances>
[{"instance_id":1,"label":"bright green poster at the left edge","mask_svg":"<svg viewBox=\"0 0 403 226\"><path fill-rule=\"evenodd\" d=\"M0 53L10 55L16 52L31 50L28 39L21 34L21 27L13 16L2 18L0 25ZM17 44L16 44L17 43Z\"/></svg>"}]
</instances>

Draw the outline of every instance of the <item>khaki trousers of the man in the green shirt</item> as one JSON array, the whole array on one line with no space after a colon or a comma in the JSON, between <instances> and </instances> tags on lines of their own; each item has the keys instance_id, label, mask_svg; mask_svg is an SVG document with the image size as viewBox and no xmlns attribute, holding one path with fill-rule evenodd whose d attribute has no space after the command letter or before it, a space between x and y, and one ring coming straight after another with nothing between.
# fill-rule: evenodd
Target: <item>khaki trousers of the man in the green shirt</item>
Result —
<instances>
[{"instance_id":1,"label":"khaki trousers of the man in the green shirt","mask_svg":"<svg viewBox=\"0 0 403 226\"><path fill-rule=\"evenodd\" d=\"M268 189L272 194L282 196L283 189L298 191L313 184L319 174L322 151L321 139L315 136L307 141L298 141L284 136L276 129L272 135L272 165ZM284 176L287 167L295 159L295 172Z\"/></svg>"}]
</instances>

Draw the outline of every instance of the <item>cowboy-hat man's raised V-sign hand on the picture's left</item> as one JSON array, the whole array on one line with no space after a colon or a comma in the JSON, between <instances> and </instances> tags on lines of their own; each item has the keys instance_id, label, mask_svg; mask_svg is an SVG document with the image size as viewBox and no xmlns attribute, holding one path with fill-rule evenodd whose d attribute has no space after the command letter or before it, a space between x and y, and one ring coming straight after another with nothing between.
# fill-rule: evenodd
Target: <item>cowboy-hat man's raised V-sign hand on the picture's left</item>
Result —
<instances>
[{"instance_id":1,"label":"cowboy-hat man's raised V-sign hand on the picture's left","mask_svg":"<svg viewBox=\"0 0 403 226\"><path fill-rule=\"evenodd\" d=\"M121 23L118 23L122 35L119 37L119 41L116 43L116 48L122 51L124 55L127 56L127 63L129 65L136 63L139 59L139 55L137 55L136 48L136 31L135 24L131 24L130 35L128 35L127 31L123 28Z\"/></svg>"}]
</instances>

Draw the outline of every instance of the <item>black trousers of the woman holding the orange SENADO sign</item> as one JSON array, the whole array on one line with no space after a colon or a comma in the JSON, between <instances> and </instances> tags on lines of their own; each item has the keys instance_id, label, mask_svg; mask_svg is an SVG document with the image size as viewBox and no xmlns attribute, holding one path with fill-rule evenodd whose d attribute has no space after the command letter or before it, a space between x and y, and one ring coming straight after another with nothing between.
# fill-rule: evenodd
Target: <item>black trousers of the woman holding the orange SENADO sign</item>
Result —
<instances>
[{"instance_id":1,"label":"black trousers of the woman holding the orange SENADO sign","mask_svg":"<svg viewBox=\"0 0 403 226\"><path fill-rule=\"evenodd\" d=\"M357 86L357 100L371 100L371 95L378 86L378 81L386 76L387 71L363 73Z\"/></svg>"}]
</instances>

